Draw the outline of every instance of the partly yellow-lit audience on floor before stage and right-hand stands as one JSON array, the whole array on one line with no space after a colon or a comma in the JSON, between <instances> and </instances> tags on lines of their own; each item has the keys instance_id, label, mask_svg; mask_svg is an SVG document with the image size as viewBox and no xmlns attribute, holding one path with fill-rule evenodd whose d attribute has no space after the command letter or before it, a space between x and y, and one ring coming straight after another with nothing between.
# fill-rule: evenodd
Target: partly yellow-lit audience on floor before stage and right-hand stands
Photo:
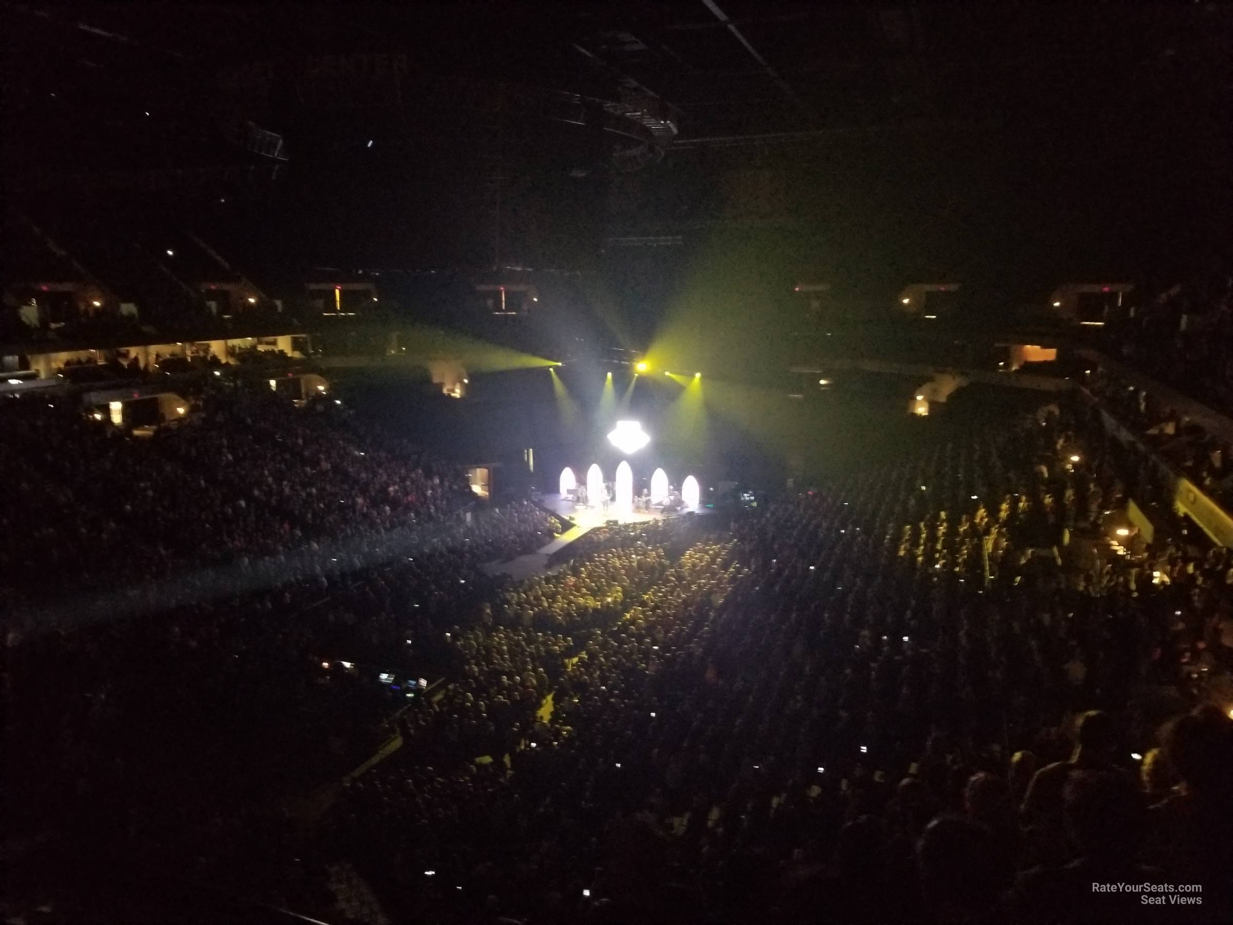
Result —
<instances>
[{"instance_id":1,"label":"partly yellow-lit audience on floor before stage and right-hand stands","mask_svg":"<svg viewBox=\"0 0 1233 925\"><path fill-rule=\"evenodd\" d=\"M1126 921L1160 913L1091 882L1147 882L1219 920L1231 722L1148 746L1233 651L1231 562L1042 565L1139 490L1092 423L704 528L641 594L698 527L597 538L457 640L465 680L408 720L427 749L349 792L349 855L408 919Z\"/></svg>"}]
</instances>

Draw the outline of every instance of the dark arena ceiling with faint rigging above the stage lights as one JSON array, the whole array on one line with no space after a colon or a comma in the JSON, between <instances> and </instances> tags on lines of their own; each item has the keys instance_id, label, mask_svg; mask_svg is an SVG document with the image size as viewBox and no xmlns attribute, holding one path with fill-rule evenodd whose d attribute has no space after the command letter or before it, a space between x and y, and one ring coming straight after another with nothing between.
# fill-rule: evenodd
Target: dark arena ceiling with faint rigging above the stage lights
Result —
<instances>
[{"instance_id":1,"label":"dark arena ceiling with faint rigging above the stage lights","mask_svg":"<svg viewBox=\"0 0 1233 925\"><path fill-rule=\"evenodd\" d=\"M1089 190L1089 178L1115 195L1144 169L1165 184L1152 196L1211 207L1227 194L1229 7L1217 4L0 11L10 196L264 202L284 217L280 233L313 217L353 242L385 229L379 263L490 263L485 229L501 222L509 259L540 264L576 260L568 242L799 222L809 216L793 212L792 189L838 176L819 157L904 173L861 146L910 152L933 176L991 147L1010 158L997 168L1007 185L1057 181L1059 195ZM780 179L761 213L705 206L725 175L764 168ZM408 231L395 211L439 224ZM359 259L338 239L308 252Z\"/></svg>"}]
</instances>

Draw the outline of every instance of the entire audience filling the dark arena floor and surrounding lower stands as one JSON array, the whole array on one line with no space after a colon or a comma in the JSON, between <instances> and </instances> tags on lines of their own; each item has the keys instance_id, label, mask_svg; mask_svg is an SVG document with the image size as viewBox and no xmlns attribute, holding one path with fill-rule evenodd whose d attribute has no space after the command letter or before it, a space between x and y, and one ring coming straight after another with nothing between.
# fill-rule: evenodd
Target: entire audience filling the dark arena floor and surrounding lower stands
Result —
<instances>
[{"instance_id":1,"label":"entire audience filling the dark arena floor and surrounding lower stands","mask_svg":"<svg viewBox=\"0 0 1233 925\"><path fill-rule=\"evenodd\" d=\"M515 583L480 566L541 544L543 512L451 512L448 475L350 422L226 405L141 446L94 434L111 497L73 462L30 483L163 567L213 560L173 527L192 493L109 474L129 451L197 476L217 561L277 555L248 545L266 530L324 553L10 644L18 818L327 920L345 861L396 921L1226 921L1233 561L1086 406L999 413L731 520L594 530ZM1127 498L1161 523L1120 555L1101 524ZM318 561L353 532L402 545ZM387 733L333 802L271 798Z\"/></svg>"}]
</instances>

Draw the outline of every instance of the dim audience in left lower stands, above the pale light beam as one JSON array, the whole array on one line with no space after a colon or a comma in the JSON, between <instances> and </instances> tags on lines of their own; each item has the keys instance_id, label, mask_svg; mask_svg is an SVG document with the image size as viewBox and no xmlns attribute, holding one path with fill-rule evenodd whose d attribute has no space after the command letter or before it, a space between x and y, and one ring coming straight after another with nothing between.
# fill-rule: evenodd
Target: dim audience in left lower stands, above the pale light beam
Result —
<instances>
[{"instance_id":1,"label":"dim audience in left lower stands, above the pale light beam","mask_svg":"<svg viewBox=\"0 0 1233 925\"><path fill-rule=\"evenodd\" d=\"M4 402L0 429L11 496L0 570L6 591L30 599L281 560L433 522L472 500L443 462L340 406L306 412L266 390L207 392L181 427L149 439L64 400Z\"/></svg>"}]
</instances>

